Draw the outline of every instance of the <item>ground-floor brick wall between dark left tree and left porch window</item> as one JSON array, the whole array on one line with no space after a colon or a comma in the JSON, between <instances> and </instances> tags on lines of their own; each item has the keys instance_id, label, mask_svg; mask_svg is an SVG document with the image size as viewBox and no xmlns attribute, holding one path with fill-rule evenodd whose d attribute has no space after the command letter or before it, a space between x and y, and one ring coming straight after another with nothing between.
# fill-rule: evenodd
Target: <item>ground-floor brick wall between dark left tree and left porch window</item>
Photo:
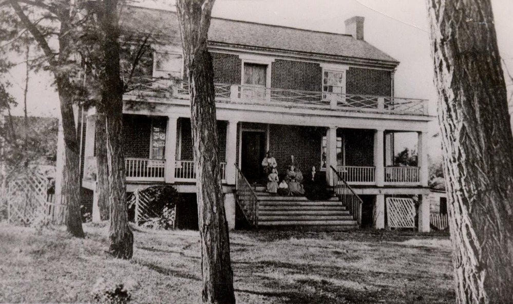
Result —
<instances>
[{"instance_id":1,"label":"ground-floor brick wall between dark left tree and left porch window","mask_svg":"<svg viewBox=\"0 0 513 304\"><path fill-rule=\"evenodd\" d=\"M123 115L123 149L125 157L149 158L151 118Z\"/></svg>"}]
</instances>

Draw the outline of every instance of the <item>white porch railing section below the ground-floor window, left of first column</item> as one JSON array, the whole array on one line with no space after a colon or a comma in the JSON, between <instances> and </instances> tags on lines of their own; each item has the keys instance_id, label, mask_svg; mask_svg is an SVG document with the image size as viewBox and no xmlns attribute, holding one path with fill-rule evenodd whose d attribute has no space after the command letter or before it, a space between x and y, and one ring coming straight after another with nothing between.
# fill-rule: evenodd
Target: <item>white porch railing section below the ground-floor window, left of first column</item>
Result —
<instances>
[{"instance_id":1,"label":"white porch railing section below the ground-floor window, left of first column","mask_svg":"<svg viewBox=\"0 0 513 304\"><path fill-rule=\"evenodd\" d=\"M125 158L126 180L163 182L165 164L163 159Z\"/></svg>"}]
</instances>

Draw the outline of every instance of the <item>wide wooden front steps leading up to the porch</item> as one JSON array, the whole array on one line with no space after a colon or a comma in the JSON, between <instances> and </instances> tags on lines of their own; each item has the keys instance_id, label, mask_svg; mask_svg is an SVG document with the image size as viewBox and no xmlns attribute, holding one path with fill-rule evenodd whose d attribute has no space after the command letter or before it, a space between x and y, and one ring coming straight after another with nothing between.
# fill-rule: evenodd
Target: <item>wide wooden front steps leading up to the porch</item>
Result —
<instances>
[{"instance_id":1,"label":"wide wooden front steps leading up to the porch","mask_svg":"<svg viewBox=\"0 0 513 304\"><path fill-rule=\"evenodd\" d=\"M357 221L337 198L311 201L306 197L278 196L256 187L258 227L271 229L352 230Z\"/></svg>"}]
</instances>

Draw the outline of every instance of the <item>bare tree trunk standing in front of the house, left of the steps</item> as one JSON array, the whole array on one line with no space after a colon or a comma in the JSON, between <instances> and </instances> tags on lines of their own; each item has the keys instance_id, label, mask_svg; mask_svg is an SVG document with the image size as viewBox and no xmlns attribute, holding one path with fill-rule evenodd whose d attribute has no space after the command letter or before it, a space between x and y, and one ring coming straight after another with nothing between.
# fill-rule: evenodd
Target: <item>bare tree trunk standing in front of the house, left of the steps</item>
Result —
<instances>
[{"instance_id":1,"label":"bare tree trunk standing in front of the house, left of the steps","mask_svg":"<svg viewBox=\"0 0 513 304\"><path fill-rule=\"evenodd\" d=\"M235 303L230 239L224 211L212 58L207 32L214 1L177 1L191 94L191 124L201 237L202 299Z\"/></svg>"}]
</instances>

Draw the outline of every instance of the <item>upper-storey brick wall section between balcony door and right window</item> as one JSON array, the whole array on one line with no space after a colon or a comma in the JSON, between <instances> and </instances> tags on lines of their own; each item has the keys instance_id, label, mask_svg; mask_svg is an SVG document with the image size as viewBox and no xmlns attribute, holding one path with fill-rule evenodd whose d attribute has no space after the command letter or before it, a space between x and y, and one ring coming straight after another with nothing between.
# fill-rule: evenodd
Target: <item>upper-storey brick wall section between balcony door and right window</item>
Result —
<instances>
[{"instance_id":1,"label":"upper-storey brick wall section between balcony door and right window","mask_svg":"<svg viewBox=\"0 0 513 304\"><path fill-rule=\"evenodd\" d=\"M305 91L322 89L322 68L318 63L277 59L271 66L273 88Z\"/></svg>"}]
</instances>

